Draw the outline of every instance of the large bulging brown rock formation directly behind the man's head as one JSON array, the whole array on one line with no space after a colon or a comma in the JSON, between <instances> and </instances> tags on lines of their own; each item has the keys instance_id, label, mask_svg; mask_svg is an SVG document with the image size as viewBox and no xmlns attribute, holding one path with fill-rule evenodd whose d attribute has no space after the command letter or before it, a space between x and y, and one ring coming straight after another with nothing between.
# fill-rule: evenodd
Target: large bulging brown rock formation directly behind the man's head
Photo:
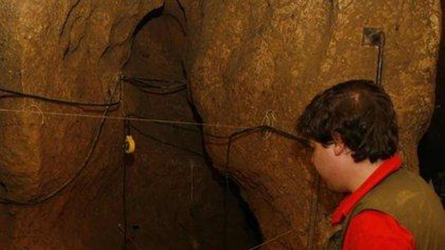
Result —
<instances>
[{"instance_id":1,"label":"large bulging brown rock formation directly behind the man's head","mask_svg":"<svg viewBox=\"0 0 445 250\"><path fill-rule=\"evenodd\" d=\"M293 132L319 91L375 79L378 48L362 40L365 27L379 28L386 38L382 85L396 109L405 165L418 171L417 143L434 103L439 1L192 2L191 92L203 121L219 125L206 132L227 136L261 124ZM225 166L226 145L206 148ZM301 145L274 133L237 136L227 171L265 239L281 235L262 249L321 249L339 197L317 184Z\"/></svg>"}]
</instances>

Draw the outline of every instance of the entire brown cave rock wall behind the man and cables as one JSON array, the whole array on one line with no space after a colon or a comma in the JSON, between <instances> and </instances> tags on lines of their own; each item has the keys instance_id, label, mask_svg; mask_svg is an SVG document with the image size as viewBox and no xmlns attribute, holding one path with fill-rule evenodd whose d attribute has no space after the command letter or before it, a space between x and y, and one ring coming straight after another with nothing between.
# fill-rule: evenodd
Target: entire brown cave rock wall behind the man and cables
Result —
<instances>
[{"instance_id":1,"label":"entire brown cave rock wall behind the man and cables","mask_svg":"<svg viewBox=\"0 0 445 250\"><path fill-rule=\"evenodd\" d=\"M262 124L291 133L317 92L375 79L378 48L363 45L365 27L384 32L382 84L405 163L417 171L440 20L438 0L0 0L1 87L82 103L121 98L106 108L2 92L0 248L258 244L237 198L229 194L224 206L224 179L208 168L211 161L225 172L227 140L202 138L198 126L131 121L137 152L124 157L122 118L201 122L193 103L206 133ZM122 74L185 81L188 91L143 93ZM238 136L227 171L271 240L261 249L322 248L341 197L318 179L302 145L275 133Z\"/></svg>"}]
</instances>

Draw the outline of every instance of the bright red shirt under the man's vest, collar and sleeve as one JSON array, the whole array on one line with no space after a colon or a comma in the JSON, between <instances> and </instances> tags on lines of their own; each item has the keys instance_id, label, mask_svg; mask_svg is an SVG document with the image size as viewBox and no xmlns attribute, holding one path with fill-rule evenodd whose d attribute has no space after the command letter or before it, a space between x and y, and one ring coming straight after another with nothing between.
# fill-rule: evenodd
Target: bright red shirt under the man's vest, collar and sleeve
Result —
<instances>
[{"instance_id":1,"label":"bright red shirt under the man's vest, collar and sleeve","mask_svg":"<svg viewBox=\"0 0 445 250\"><path fill-rule=\"evenodd\" d=\"M331 217L331 224L337 225L352 211L355 204L386 176L400 168L402 159L398 155L385 160L374 173L354 192L341 201ZM416 245L410 231L395 218L376 210L365 210L349 222L343 250L414 250Z\"/></svg>"}]
</instances>

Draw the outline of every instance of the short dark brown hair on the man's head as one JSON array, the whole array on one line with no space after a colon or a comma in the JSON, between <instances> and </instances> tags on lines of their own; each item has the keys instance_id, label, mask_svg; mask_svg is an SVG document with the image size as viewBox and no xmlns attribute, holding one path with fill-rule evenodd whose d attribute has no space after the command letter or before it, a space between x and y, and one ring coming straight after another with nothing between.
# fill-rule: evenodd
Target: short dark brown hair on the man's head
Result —
<instances>
[{"instance_id":1,"label":"short dark brown hair on the man's head","mask_svg":"<svg viewBox=\"0 0 445 250\"><path fill-rule=\"evenodd\" d=\"M394 108L383 88L369 80L339 83L315 96L297 122L297 132L324 146L339 134L355 162L384 160L397 151Z\"/></svg>"}]
</instances>

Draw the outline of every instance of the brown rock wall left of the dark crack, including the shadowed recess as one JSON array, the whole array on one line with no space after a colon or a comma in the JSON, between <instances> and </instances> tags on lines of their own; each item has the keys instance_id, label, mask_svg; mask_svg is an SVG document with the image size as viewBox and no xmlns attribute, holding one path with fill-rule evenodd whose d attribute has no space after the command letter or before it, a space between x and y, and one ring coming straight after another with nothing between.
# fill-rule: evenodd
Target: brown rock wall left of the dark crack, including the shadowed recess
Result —
<instances>
[{"instance_id":1,"label":"brown rock wall left of the dark crack, including the shadowed recess","mask_svg":"<svg viewBox=\"0 0 445 250\"><path fill-rule=\"evenodd\" d=\"M82 104L117 103L70 105L1 93L0 248L222 249L226 239L236 248L257 243L260 236L252 236L234 195L226 207L233 230L222 237L224 187L205 160L199 127L184 132L132 122L137 151L123 155L126 115L195 121L187 92L157 96L120 80L183 80L182 52L171 46L181 48L184 35L174 18L156 12L163 6L169 5L0 0L3 89Z\"/></svg>"}]
</instances>

